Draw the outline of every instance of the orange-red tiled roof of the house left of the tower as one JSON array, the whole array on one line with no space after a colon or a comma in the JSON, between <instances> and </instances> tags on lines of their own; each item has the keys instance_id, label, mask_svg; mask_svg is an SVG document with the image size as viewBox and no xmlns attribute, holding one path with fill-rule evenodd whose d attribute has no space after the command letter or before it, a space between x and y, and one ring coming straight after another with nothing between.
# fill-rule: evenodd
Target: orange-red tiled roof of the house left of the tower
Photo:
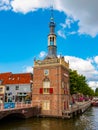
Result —
<instances>
[{"instance_id":1,"label":"orange-red tiled roof of the house left of the tower","mask_svg":"<svg viewBox=\"0 0 98 130\"><path fill-rule=\"evenodd\" d=\"M0 80L2 80L2 84L28 84L30 81L33 81L33 74L31 73L19 73L13 74L11 72L8 73L0 73Z\"/></svg>"}]
</instances>

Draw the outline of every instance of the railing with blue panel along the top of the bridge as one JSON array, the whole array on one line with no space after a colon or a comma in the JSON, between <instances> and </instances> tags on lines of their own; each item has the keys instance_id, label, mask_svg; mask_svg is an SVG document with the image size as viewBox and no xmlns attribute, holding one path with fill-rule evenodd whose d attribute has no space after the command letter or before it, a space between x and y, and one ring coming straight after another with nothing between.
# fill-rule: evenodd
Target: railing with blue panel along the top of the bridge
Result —
<instances>
[{"instance_id":1,"label":"railing with blue panel along the top of the bridge","mask_svg":"<svg viewBox=\"0 0 98 130\"><path fill-rule=\"evenodd\" d=\"M32 103L5 102L0 104L0 111L32 107Z\"/></svg>"}]
</instances>

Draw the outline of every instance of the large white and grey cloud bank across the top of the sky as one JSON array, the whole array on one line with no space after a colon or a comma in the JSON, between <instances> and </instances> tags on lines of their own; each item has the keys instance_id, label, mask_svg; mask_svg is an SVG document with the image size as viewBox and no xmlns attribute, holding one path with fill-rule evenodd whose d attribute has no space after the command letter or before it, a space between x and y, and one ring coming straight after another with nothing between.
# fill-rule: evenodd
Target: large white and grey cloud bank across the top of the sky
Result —
<instances>
[{"instance_id":1,"label":"large white and grey cloud bank across the top of the sky","mask_svg":"<svg viewBox=\"0 0 98 130\"><path fill-rule=\"evenodd\" d=\"M54 9L63 11L67 15L65 23L62 24L63 27L72 28L71 24L78 21L77 32L79 34L87 34L92 37L98 34L98 0L12 0L11 2L10 0L0 0L0 10L12 8L14 12L24 14L39 8L46 9L51 5ZM61 36L64 37L64 35Z\"/></svg>"}]
</instances>

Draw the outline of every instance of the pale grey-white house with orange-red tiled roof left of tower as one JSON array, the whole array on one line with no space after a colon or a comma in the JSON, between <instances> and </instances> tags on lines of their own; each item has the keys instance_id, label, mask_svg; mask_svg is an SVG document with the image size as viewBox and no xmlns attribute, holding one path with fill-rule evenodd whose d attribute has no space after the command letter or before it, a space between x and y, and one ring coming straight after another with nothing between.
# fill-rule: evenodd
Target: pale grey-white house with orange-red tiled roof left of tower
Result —
<instances>
[{"instance_id":1,"label":"pale grey-white house with orange-red tiled roof left of tower","mask_svg":"<svg viewBox=\"0 0 98 130\"><path fill-rule=\"evenodd\" d=\"M2 80L2 85L5 86L4 102L31 101L32 73L1 73L0 80Z\"/></svg>"}]
</instances>

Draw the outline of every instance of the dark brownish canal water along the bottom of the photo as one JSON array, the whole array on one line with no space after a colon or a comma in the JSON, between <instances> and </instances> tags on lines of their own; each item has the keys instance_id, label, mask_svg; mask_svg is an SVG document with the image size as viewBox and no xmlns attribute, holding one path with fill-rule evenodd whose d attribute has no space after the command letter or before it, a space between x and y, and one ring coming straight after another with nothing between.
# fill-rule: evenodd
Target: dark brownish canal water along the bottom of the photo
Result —
<instances>
[{"instance_id":1,"label":"dark brownish canal water along the bottom of the photo","mask_svg":"<svg viewBox=\"0 0 98 130\"><path fill-rule=\"evenodd\" d=\"M73 119L30 118L0 121L0 130L98 130L98 108Z\"/></svg>"}]
</instances>

